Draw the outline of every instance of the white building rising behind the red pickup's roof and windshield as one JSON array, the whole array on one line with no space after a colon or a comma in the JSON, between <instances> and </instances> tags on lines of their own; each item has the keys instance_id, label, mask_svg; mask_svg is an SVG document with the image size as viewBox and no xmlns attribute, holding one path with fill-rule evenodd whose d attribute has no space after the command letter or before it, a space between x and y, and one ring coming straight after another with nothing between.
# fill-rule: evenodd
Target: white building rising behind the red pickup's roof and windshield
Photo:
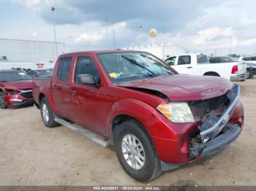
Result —
<instances>
[{"instance_id":1,"label":"white building rising behind the red pickup's roof and windshield","mask_svg":"<svg viewBox=\"0 0 256 191\"><path fill-rule=\"evenodd\" d=\"M140 47L124 47L124 50L140 50L140 51L145 51L149 52L152 55L156 55L158 58L161 58L162 60L165 60L171 55L176 55L176 54L183 54L187 53L187 49L185 47L178 46L176 44L152 44L148 45L147 47L140 46Z\"/></svg>"}]
</instances>

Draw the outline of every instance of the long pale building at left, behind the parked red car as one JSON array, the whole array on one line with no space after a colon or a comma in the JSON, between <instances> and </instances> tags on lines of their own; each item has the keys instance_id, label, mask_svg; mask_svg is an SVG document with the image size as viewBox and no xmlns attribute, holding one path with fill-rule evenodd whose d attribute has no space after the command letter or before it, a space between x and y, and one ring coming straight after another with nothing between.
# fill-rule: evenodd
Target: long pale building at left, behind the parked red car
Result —
<instances>
[{"instance_id":1,"label":"long pale building at left, behind the parked red car","mask_svg":"<svg viewBox=\"0 0 256 191\"><path fill-rule=\"evenodd\" d=\"M57 47L57 51L56 51ZM65 52L63 42L0 39L0 69L50 69L58 55Z\"/></svg>"}]
</instances>

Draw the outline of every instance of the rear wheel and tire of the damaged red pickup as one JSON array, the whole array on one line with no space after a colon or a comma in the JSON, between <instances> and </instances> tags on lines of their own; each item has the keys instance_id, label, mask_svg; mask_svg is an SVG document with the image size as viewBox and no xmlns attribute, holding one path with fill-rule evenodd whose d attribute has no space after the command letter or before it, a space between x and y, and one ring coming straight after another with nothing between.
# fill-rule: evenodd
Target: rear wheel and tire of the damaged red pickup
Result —
<instances>
[{"instance_id":1,"label":"rear wheel and tire of the damaged red pickup","mask_svg":"<svg viewBox=\"0 0 256 191\"><path fill-rule=\"evenodd\" d=\"M41 112L42 122L44 122L46 127L54 128L59 125L58 122L54 121L53 112L51 111L46 98L42 98L40 102L40 112Z\"/></svg>"}]
</instances>

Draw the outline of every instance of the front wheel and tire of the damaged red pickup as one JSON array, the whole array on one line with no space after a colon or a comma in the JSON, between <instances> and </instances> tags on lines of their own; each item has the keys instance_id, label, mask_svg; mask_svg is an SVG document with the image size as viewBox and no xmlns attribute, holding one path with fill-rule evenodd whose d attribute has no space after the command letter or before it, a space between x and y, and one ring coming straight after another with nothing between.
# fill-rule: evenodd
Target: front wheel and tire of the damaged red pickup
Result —
<instances>
[{"instance_id":1,"label":"front wheel and tire of the damaged red pickup","mask_svg":"<svg viewBox=\"0 0 256 191\"><path fill-rule=\"evenodd\" d=\"M139 182L146 182L162 173L157 152L139 122L123 122L116 128L115 135L119 163L129 176Z\"/></svg>"}]
</instances>

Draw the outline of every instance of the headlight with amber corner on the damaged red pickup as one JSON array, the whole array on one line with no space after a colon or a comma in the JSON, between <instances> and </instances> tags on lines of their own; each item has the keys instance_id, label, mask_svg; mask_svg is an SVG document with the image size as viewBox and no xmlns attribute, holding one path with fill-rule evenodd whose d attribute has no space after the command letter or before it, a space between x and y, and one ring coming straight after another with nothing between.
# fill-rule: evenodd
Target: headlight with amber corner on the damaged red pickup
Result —
<instances>
[{"instance_id":1,"label":"headlight with amber corner on the damaged red pickup","mask_svg":"<svg viewBox=\"0 0 256 191\"><path fill-rule=\"evenodd\" d=\"M194 116L186 102L160 104L157 110L172 122L195 122Z\"/></svg>"}]
</instances>

